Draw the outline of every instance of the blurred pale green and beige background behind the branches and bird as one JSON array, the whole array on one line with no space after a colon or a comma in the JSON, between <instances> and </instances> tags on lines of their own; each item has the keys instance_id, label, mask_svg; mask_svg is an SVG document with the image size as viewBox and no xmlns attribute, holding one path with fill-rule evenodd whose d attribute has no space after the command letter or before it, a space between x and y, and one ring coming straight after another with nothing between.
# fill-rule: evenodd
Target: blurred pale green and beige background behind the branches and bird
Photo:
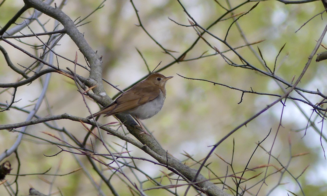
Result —
<instances>
[{"instance_id":1,"label":"blurred pale green and beige background behind the branches and bird","mask_svg":"<svg viewBox=\"0 0 327 196\"><path fill-rule=\"evenodd\" d=\"M60 3L60 1L54 2ZM87 0L68 1L62 10L72 20L78 20L78 17L84 18L94 11L101 2ZM220 0L182 1L183 6L194 20L205 28L226 12L217 2L228 8L229 3L231 7L235 7L243 1L235 0L229 3L228 1ZM190 25L187 15L177 1L145 0L133 1L133 3L138 10L140 20L146 31L165 49L175 51L172 54L176 58L184 53L198 38L193 27L177 24ZM235 15L245 13L255 3L248 3L236 9L233 13ZM0 25L3 27L23 5L24 2L21 0L3 1L0 7ZM278 1L263 1L251 10L250 13L241 17L238 20L238 24L249 43L263 40L258 44L252 45L252 47L257 54L257 47L260 48L262 56L270 69L273 69L276 56L286 43L276 62L276 75L292 83L293 77L295 76L295 79L297 79L302 72L308 61L308 56L317 43L316 40L319 39L325 28L326 13L313 18L308 23L306 22L323 10L324 7L321 1L294 5L285 5ZM24 13L23 16L27 17L30 14L31 10ZM227 19L230 16L229 14L224 18ZM39 18L41 23L45 23L48 19L49 17L46 15L42 15ZM20 21L23 22L23 19L20 19ZM174 59L164 53L149 38L145 31L138 26L139 22L130 1L107 0L101 9L93 13L84 22L89 23L78 27L78 29L84 34L85 39L92 48L99 55L103 56L103 78L113 85L117 85L120 89L129 87L148 74L144 60L137 52L137 49L142 53L151 71L160 62L159 68L174 62ZM219 38L224 38L231 23L232 19L219 22L210 29L210 32ZM304 23L306 24L297 31ZM48 31L53 26L53 19L45 25ZM31 23L30 27L35 32L43 32L37 22ZM295 31L297 32L295 33ZM31 33L28 28L23 29L21 32L23 34ZM208 34L205 34L204 38L219 51L229 49L222 42ZM244 39L235 24L232 25L226 40L232 47L245 45ZM10 41L20 45L30 53L38 54L32 47L26 46L17 40L11 39ZM31 46L40 45L40 41L37 38L24 38L22 41ZM326 44L326 41L327 39L325 38L323 44ZM78 62L86 65L84 57L67 35L58 44L54 49L57 53L74 60L75 53L77 52ZM7 50L15 65L26 66L34 61L4 42L0 42L0 45ZM323 48L318 50L318 52L323 51L325 51ZM237 49L237 52L252 66L265 70L261 60L256 58L249 47ZM143 120L145 126L153 133L153 136L163 148L180 160L187 159L185 155L192 156L193 159L198 161L203 159L211 150L210 145L217 143L231 130L275 101L277 97L249 93L244 94L242 97L242 92L240 91L220 85L213 85L205 81L188 80L177 74L190 78L205 79L215 83L223 83L243 90L250 91L252 89L260 93L283 95L281 88L270 77L257 71L232 67L219 54L198 58L203 53L208 55L215 54L216 52L204 41L200 40L187 53L184 58L185 61L174 63L161 71L165 76L174 76L166 84L167 98L163 109L154 117ZM233 52L227 52L224 55L235 62L240 62ZM19 76L6 65L2 54L0 55L0 62L2 65L0 66L0 83L17 82ZM60 68L74 68L73 63L62 58L58 58L58 64ZM327 82L325 77L327 68L325 64L324 61L316 63L313 60L298 87L309 91L319 89L320 92L326 93L324 84ZM57 65L56 61L55 65ZM77 69L77 74L88 77L88 72L81 68ZM37 80L28 86L18 88L16 100L19 101L14 103L14 106L30 110L42 90L41 83L41 80ZM108 84L105 84L105 87L110 97L118 93L116 89ZM10 102L11 93L12 89L1 89L0 102ZM300 98L294 92L291 96ZM306 94L305 96L314 104L322 100L313 94ZM242 102L239 103L241 97ZM269 159L267 152L259 147L247 166L249 169L257 169L247 172L243 177L250 178L256 174L259 176L241 185L243 188L245 186L256 186L250 189L251 194L245 193L244 195L291 195L290 192L302 195L299 184L301 184L305 195L326 195L327 164L322 146L326 149L327 145L324 140L320 140L321 135L319 134L320 131L322 135L326 134L325 121L321 121L321 117L317 117L312 107L301 102L296 103L299 106L287 99L285 102L286 107L284 107L283 111L283 105L281 103L276 104L248 123L246 127L244 126L237 130L217 147L215 154L207 162L211 163L210 169L217 176L225 176L227 168L229 168L228 174L232 174L232 170L235 173L242 172L255 151L257 143L264 140L271 131L261 146L267 151L272 148L271 155L278 159L270 157L268 174L273 174L266 178L267 185L263 185L259 191L262 184L260 179L264 177L266 172L266 167L262 166L267 165ZM100 109L95 101L90 98L87 99L87 104L93 113ZM60 74L52 74L46 99L37 114L47 116L62 113L69 113L80 117L90 115L81 95L77 92L74 81ZM22 111L10 109L0 113L0 124L23 122L26 120L27 115L27 113ZM307 117L310 116L311 120L319 128L319 132L308 126ZM279 126L280 120L282 126ZM117 122L117 119L112 116L107 118L101 117L99 122L106 124ZM81 141L87 134L87 130L77 122L58 120L51 123L65 127ZM307 126L308 128L306 129ZM118 126L113 128L118 128ZM123 128L125 129L125 127ZM120 131L122 130L120 129ZM59 134L57 131L51 130L42 124L28 128L28 133L33 136L58 142L58 140L45 135L43 132ZM3 152L15 142L17 134L13 134L8 130L1 130L0 134L1 151ZM125 143L111 135L103 135L105 140L110 145L115 146L115 148L119 148L119 145L124 145ZM275 136L276 139L274 140ZM101 152L101 148L103 147L99 145L98 152ZM132 145L129 146L129 150L132 156L150 158ZM21 161L20 173L43 173L51 168L49 173L64 174L80 167L71 153L62 152L55 157L44 156L54 155L59 151L60 149L56 145L35 137L24 137L18 150ZM85 157L80 155L79 158L85 164L85 167L92 168ZM232 170L221 158L229 163L233 161ZM18 163L15 155L11 155L6 160L9 160L12 164L13 170L11 173L17 173ZM136 162L138 167L145 170L151 176L161 176L161 170L167 171L165 168L149 162ZM188 160L185 163L192 164L194 161ZM285 167L287 166L289 173L278 172L278 169L283 168L281 164ZM302 174L303 171L304 173ZM210 172L207 169L203 169L202 173L210 177ZM94 174L92 170L91 174ZM297 178L298 182L294 178ZM6 179L10 183L15 179L15 176L7 176ZM46 194L50 191L54 193L53 195L60 195L58 189L61 190L62 195L97 194L97 190L85 179L87 177L82 171L55 178L46 175L21 176L19 177L20 192L18 195L28 195L30 187L34 187ZM146 180L146 177L140 175L140 179ZM99 177L94 175L94 180L98 182ZM230 181L231 184L233 183L231 179L227 181ZM256 184L258 182L259 184ZM120 184L121 181L117 179L116 185ZM101 186L100 183L99 185ZM119 189L121 195L130 195L129 190L124 185L117 189ZM0 186L0 190L6 195L7 191L4 185ZM111 195L108 188L103 188L103 191L105 194ZM257 191L259 192L257 193ZM167 195L167 192L151 190L147 191L146 194ZM190 195L195 195L195 193L190 193Z\"/></svg>"}]
</instances>

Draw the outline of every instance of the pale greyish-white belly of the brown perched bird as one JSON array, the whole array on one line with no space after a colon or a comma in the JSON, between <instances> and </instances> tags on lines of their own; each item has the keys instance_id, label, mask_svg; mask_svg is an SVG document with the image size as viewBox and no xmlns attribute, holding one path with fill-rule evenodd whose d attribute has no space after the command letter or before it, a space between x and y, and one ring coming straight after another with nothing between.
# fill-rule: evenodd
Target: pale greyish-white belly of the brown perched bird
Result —
<instances>
[{"instance_id":1,"label":"pale greyish-white belly of the brown perched bird","mask_svg":"<svg viewBox=\"0 0 327 196\"><path fill-rule=\"evenodd\" d=\"M130 115L136 116L141 120L151 118L161 110L163 107L164 99L165 97L163 96L163 93L160 93L160 95L152 101L149 101L124 113L129 113Z\"/></svg>"}]
</instances>

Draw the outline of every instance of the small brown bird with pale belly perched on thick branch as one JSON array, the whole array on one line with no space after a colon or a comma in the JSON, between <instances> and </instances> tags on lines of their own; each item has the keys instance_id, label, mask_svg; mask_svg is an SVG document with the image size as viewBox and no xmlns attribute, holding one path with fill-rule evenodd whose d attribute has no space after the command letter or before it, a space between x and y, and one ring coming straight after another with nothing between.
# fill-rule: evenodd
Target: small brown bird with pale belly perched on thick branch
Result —
<instances>
[{"instance_id":1,"label":"small brown bird with pale belly perched on thick branch","mask_svg":"<svg viewBox=\"0 0 327 196\"><path fill-rule=\"evenodd\" d=\"M128 91L121 94L110 105L86 118L105 114L104 117L118 113L130 114L138 122L144 133L141 120L151 118L163 107L166 98L166 82L173 76L165 77L160 73L152 73L145 80L135 84Z\"/></svg>"}]
</instances>

